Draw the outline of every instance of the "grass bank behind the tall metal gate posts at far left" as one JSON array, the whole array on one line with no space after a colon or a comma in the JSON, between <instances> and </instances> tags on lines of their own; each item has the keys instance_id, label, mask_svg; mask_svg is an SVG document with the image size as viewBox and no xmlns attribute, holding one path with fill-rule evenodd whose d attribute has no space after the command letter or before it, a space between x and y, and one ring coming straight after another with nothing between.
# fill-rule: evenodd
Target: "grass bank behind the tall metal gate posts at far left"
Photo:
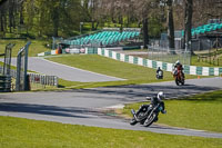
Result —
<instances>
[{"instance_id":1,"label":"grass bank behind the tall metal gate posts at far left","mask_svg":"<svg viewBox=\"0 0 222 148\"><path fill-rule=\"evenodd\" d=\"M17 57L18 51L26 46L28 40L0 40L0 53L4 53L6 46L10 42L16 43L16 46L12 48L12 57ZM49 51L50 49L44 47L46 43L48 42L43 40L31 40L31 45L29 47L29 57L36 57L40 52Z\"/></svg>"}]
</instances>

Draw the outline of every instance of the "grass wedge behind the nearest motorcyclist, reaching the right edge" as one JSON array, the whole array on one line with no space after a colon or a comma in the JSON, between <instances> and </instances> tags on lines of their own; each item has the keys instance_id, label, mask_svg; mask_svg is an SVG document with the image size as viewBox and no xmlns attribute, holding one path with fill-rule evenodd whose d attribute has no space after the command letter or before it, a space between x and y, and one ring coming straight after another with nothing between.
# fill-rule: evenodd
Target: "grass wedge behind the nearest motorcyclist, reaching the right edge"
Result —
<instances>
[{"instance_id":1,"label":"grass wedge behind the nearest motorcyclist, reaching the right edge","mask_svg":"<svg viewBox=\"0 0 222 148\"><path fill-rule=\"evenodd\" d=\"M222 132L222 90L164 102L168 114L160 114L159 124ZM123 114L140 105L127 105Z\"/></svg>"}]
</instances>

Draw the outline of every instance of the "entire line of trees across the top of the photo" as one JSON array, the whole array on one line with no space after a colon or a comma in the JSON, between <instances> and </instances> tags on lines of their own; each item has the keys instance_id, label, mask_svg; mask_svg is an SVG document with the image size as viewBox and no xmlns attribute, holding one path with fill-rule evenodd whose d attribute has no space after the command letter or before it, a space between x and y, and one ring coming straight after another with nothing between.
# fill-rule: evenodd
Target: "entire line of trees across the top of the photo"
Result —
<instances>
[{"instance_id":1,"label":"entire line of trees across the top of the photo","mask_svg":"<svg viewBox=\"0 0 222 148\"><path fill-rule=\"evenodd\" d=\"M80 22L97 30L110 23L140 27L144 46L150 37L168 31L174 48L174 30L185 31L220 19L222 0L0 0L0 36L71 37L79 33Z\"/></svg>"}]
</instances>

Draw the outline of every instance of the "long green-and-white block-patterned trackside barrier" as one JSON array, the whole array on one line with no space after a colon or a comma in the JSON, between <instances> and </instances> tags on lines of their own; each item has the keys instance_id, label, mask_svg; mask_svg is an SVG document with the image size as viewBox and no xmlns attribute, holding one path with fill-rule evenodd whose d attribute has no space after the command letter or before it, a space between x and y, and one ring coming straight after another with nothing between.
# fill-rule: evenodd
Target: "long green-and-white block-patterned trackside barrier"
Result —
<instances>
[{"instance_id":1,"label":"long green-and-white block-patterned trackside barrier","mask_svg":"<svg viewBox=\"0 0 222 148\"><path fill-rule=\"evenodd\" d=\"M49 52L39 53L38 56L47 56ZM172 71L173 70L173 63L169 62L162 62L162 61L154 61L149 60L144 58L128 56L124 53L119 53L112 50L103 49L103 48L85 48L85 53L88 55L100 55L103 57L108 57L114 60L129 62L133 65L139 65L148 68L154 68L157 69L160 67L161 69L165 71ZM51 55L56 55L53 50L51 51ZM213 68L213 67L196 67L196 66L183 66L184 73L188 75L196 75L196 76L222 76L222 68Z\"/></svg>"}]
</instances>

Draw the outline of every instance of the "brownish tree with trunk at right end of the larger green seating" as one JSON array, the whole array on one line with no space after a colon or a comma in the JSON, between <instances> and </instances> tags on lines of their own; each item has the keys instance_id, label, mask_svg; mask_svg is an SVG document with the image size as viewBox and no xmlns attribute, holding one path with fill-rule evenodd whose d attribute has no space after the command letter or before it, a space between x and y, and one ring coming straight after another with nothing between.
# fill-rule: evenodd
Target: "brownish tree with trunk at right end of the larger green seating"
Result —
<instances>
[{"instance_id":1,"label":"brownish tree with trunk at right end of the larger green seating","mask_svg":"<svg viewBox=\"0 0 222 148\"><path fill-rule=\"evenodd\" d=\"M123 21L128 27L129 23L142 24L143 46L149 45L149 18L158 16L159 0L101 0L101 8L99 14L102 19L112 22L119 22L121 28ZM155 19L151 19L152 21Z\"/></svg>"}]
</instances>

